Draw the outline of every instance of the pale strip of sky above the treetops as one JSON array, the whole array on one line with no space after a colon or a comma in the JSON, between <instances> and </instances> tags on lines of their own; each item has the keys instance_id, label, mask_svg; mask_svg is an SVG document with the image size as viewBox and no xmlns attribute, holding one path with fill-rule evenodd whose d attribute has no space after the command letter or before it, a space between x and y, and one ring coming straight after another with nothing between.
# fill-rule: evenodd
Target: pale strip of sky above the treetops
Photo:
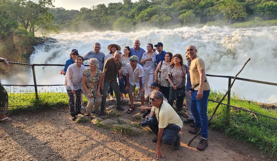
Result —
<instances>
[{"instance_id":1,"label":"pale strip of sky above the treetops","mask_svg":"<svg viewBox=\"0 0 277 161\"><path fill-rule=\"evenodd\" d=\"M132 0L132 2L135 2L138 0ZM53 5L55 7L63 7L64 9L76 9L80 10L82 7L90 8L93 5L98 5L104 3L105 5L109 3L117 3L117 2L123 2L123 0L55 0L53 2Z\"/></svg>"}]
</instances>

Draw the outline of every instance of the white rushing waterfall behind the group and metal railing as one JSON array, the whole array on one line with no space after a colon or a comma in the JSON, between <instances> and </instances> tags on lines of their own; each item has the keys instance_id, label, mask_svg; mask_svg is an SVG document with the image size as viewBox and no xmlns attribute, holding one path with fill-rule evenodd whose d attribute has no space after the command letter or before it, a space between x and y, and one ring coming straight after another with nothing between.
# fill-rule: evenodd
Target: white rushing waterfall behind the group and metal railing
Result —
<instances>
[{"instance_id":1,"label":"white rushing waterfall behind the group and metal railing","mask_svg":"<svg viewBox=\"0 0 277 161\"><path fill-rule=\"evenodd\" d=\"M277 27L260 27L231 29L221 27L183 27L174 30L151 29L122 33L117 31L62 33L51 35L56 43L44 43L35 46L30 63L64 64L69 59L71 49L77 49L80 55L93 50L95 42L101 43L101 51L108 53L107 46L116 43L133 47L133 40L141 39L141 47L146 49L147 43L162 42L167 52L180 53L185 56L189 44L197 47L197 55L206 65L206 74L235 76L245 61L250 57L239 77L266 82L277 80ZM184 61L186 63L185 57ZM86 62L87 63L87 62ZM37 84L63 84L64 75L60 75L63 67L35 67ZM32 77L31 77L32 78ZM228 79L208 77L213 90L227 90ZM30 79L30 84L32 79ZM236 80L232 92L240 98L259 102L277 102L277 87Z\"/></svg>"}]
</instances>

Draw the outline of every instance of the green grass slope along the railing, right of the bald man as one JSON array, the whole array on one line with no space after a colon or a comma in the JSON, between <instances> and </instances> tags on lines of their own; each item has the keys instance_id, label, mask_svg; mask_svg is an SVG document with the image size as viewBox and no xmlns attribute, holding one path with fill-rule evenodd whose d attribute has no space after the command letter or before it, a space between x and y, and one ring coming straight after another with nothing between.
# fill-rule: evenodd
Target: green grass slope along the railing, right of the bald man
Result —
<instances>
[{"instance_id":1,"label":"green grass slope along the railing, right of the bald man","mask_svg":"<svg viewBox=\"0 0 277 161\"><path fill-rule=\"evenodd\" d=\"M209 98L220 101L223 95L220 92L212 91ZM223 103L227 103L227 99ZM260 107L258 102L238 99L235 94L233 94L230 104L277 118L276 110L265 110ZM217 103L209 102L208 116L211 116L215 106ZM231 108L230 122L228 122L226 111L226 106L219 107L216 117L211 122L211 128L220 129L228 136L259 148L262 153L266 152L277 157L277 120Z\"/></svg>"}]
</instances>

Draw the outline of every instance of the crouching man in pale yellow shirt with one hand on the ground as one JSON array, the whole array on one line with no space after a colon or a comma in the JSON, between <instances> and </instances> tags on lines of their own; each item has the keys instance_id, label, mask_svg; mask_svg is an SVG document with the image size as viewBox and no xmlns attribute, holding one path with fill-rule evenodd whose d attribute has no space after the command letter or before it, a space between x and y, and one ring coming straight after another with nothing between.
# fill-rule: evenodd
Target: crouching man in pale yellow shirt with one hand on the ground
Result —
<instances>
[{"instance_id":1,"label":"crouching man in pale yellow shirt with one hand on the ground","mask_svg":"<svg viewBox=\"0 0 277 161\"><path fill-rule=\"evenodd\" d=\"M160 159L163 156L161 151L161 144L174 144L173 149L180 149L180 135L178 132L183 127L183 122L175 112L175 110L163 100L163 94L154 90L151 94L150 101L152 106L151 112L147 121L152 132L158 136L157 138L157 150L155 159ZM158 125L151 123L151 118L156 115ZM153 127L154 125L154 127Z\"/></svg>"}]
</instances>

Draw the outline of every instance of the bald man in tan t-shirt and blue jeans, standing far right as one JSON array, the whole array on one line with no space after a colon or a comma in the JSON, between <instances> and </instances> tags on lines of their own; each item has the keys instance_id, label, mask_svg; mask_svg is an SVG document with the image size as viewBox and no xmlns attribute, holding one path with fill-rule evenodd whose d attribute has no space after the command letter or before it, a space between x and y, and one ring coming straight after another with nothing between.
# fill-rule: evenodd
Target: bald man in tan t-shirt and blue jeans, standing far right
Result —
<instances>
[{"instance_id":1,"label":"bald man in tan t-shirt and blue jeans, standing far right","mask_svg":"<svg viewBox=\"0 0 277 161\"><path fill-rule=\"evenodd\" d=\"M197 134L201 129L201 141L197 146L197 150L205 150L208 146L208 98L210 94L210 85L205 74L205 63L196 55L197 49L193 45L189 45L186 49L188 57L191 59L188 65L190 73L191 88L189 95L191 96L190 109L192 115L198 124L193 130L188 130L190 134Z\"/></svg>"}]
</instances>

